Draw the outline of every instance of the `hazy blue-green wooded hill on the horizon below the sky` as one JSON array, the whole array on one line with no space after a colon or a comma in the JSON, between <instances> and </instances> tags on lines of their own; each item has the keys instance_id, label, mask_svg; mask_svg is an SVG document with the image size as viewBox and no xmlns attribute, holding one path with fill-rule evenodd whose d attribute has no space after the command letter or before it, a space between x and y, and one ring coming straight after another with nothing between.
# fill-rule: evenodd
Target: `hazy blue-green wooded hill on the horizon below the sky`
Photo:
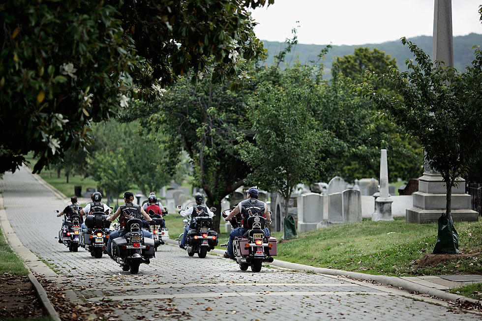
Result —
<instances>
[{"instance_id":1,"label":"hazy blue-green wooded hill on the horizon below the sky","mask_svg":"<svg viewBox=\"0 0 482 321\"><path fill-rule=\"evenodd\" d=\"M431 36L419 36L408 38L408 40L416 43L420 48L423 49L429 55L432 54L432 37ZM264 63L271 65L273 62L273 57L280 50L286 47L283 42L276 41L265 41L263 40L264 47L268 49L268 59ZM465 66L472 65L472 60L474 60L474 50L472 47L474 45L482 44L482 34L470 33L466 36L456 36L453 37L453 65L455 69L463 71ZM405 60L407 58L413 58L412 53L408 47L402 45L400 40L388 41L379 44L364 44L357 46L333 46L328 52L325 63L325 77L330 77L331 73L331 61L334 57L343 57L346 55L353 54L355 48L358 47L369 47L370 49L378 48L384 51L391 57L396 58L396 63L398 68L402 71L407 70L405 66ZM325 48L322 45L304 45L298 44L292 50L292 52L286 55L285 62L293 63L297 58L301 63L309 63L310 60L317 60L317 55L320 51Z\"/></svg>"}]
</instances>

